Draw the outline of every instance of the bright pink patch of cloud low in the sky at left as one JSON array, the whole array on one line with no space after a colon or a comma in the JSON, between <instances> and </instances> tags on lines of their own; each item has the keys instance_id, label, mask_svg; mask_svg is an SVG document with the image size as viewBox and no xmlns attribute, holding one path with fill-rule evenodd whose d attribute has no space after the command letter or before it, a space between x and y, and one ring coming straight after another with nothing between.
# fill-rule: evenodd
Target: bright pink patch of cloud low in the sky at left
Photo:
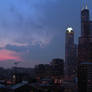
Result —
<instances>
[{"instance_id":1,"label":"bright pink patch of cloud low in the sky at left","mask_svg":"<svg viewBox=\"0 0 92 92\"><path fill-rule=\"evenodd\" d=\"M5 60L16 60L20 61L21 58L19 57L18 53L14 51L9 51L6 49L1 49L0 50L0 61L5 61Z\"/></svg>"}]
</instances>

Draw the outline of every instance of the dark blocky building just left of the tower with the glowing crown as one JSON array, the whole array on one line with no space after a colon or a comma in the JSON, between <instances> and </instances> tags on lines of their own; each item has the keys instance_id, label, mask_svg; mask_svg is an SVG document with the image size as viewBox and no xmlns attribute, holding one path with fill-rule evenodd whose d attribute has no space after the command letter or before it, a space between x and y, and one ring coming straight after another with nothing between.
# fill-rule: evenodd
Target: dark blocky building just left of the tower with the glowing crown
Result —
<instances>
[{"instance_id":1,"label":"dark blocky building just left of the tower with the glowing crown","mask_svg":"<svg viewBox=\"0 0 92 92\"><path fill-rule=\"evenodd\" d=\"M62 84L64 78L64 60L54 58L51 63L51 77L55 84Z\"/></svg>"}]
</instances>

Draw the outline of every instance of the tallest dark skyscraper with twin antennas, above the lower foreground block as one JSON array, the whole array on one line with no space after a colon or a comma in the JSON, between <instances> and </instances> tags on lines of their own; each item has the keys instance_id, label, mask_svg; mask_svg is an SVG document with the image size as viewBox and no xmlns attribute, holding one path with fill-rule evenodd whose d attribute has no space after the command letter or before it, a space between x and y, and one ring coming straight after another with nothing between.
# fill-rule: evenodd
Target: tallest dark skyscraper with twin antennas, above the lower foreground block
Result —
<instances>
[{"instance_id":1,"label":"tallest dark skyscraper with twin antennas, above the lower foreground block","mask_svg":"<svg viewBox=\"0 0 92 92\"><path fill-rule=\"evenodd\" d=\"M81 36L79 37L78 59L79 63L92 62L92 22L89 17L89 10L86 6L81 11ZM85 53L86 52L86 53Z\"/></svg>"}]
</instances>

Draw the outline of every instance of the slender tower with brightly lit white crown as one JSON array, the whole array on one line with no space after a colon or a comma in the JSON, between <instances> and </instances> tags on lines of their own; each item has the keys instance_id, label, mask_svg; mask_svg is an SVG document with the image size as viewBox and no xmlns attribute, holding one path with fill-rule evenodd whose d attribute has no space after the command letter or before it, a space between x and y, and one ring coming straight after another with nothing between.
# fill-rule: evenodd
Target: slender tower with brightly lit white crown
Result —
<instances>
[{"instance_id":1,"label":"slender tower with brightly lit white crown","mask_svg":"<svg viewBox=\"0 0 92 92\"><path fill-rule=\"evenodd\" d=\"M74 44L74 31L71 27L66 30L65 39L65 72L71 76L77 66L77 45Z\"/></svg>"}]
</instances>

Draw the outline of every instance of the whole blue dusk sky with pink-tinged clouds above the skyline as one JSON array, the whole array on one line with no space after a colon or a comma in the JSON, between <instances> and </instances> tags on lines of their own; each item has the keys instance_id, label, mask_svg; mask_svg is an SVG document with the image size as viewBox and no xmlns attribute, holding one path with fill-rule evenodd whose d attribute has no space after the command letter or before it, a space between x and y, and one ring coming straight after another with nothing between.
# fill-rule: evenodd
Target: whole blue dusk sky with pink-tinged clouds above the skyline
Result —
<instances>
[{"instance_id":1,"label":"whole blue dusk sky with pink-tinged clouds above the skyline","mask_svg":"<svg viewBox=\"0 0 92 92\"><path fill-rule=\"evenodd\" d=\"M80 35L81 0L0 0L0 67L48 64L65 56L65 31ZM88 1L92 19L92 0Z\"/></svg>"}]
</instances>

